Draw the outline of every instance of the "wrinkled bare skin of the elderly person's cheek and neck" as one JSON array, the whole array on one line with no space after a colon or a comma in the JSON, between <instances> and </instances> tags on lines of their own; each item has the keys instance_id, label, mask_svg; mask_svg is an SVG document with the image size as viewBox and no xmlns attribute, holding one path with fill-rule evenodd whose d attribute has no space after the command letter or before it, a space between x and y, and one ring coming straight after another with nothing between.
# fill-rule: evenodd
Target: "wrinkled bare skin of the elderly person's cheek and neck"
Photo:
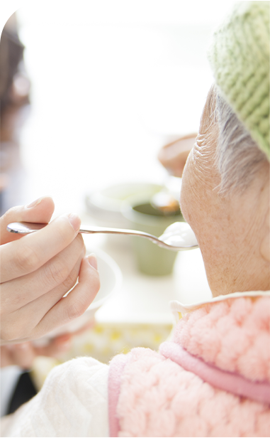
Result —
<instances>
[{"instance_id":1,"label":"wrinkled bare skin of the elderly person's cheek and neck","mask_svg":"<svg viewBox=\"0 0 270 438\"><path fill-rule=\"evenodd\" d=\"M215 168L218 126L209 102L186 161L181 210L193 228L213 296L270 289L270 164L261 164L249 187L218 193Z\"/></svg>"}]
</instances>

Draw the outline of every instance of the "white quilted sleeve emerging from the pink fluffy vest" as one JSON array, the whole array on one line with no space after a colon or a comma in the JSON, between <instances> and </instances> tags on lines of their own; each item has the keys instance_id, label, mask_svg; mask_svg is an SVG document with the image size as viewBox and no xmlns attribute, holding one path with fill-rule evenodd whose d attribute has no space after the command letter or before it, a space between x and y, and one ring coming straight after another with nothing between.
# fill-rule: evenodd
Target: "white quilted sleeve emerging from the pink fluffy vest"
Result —
<instances>
[{"instance_id":1,"label":"white quilted sleeve emerging from the pink fluffy vest","mask_svg":"<svg viewBox=\"0 0 270 438\"><path fill-rule=\"evenodd\" d=\"M1 437L108 437L108 365L77 358L55 367L30 402L0 420Z\"/></svg>"}]
</instances>

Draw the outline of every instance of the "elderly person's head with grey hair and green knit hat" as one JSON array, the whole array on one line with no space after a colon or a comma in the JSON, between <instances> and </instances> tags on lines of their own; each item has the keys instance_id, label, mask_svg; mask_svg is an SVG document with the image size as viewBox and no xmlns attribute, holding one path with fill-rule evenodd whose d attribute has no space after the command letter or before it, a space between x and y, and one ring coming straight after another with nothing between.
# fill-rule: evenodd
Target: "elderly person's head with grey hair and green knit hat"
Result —
<instances>
[{"instance_id":1,"label":"elderly person's head with grey hair and green knit hat","mask_svg":"<svg viewBox=\"0 0 270 438\"><path fill-rule=\"evenodd\" d=\"M217 85L183 174L213 295L270 289L269 3L243 2L215 34Z\"/></svg>"}]
</instances>

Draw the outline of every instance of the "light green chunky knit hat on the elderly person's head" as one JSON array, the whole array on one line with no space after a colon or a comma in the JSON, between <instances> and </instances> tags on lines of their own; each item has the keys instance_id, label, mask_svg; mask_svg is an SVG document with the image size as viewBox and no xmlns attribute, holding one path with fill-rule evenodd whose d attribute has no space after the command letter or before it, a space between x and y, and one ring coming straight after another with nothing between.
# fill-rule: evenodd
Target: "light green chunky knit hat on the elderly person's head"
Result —
<instances>
[{"instance_id":1,"label":"light green chunky knit hat on the elderly person's head","mask_svg":"<svg viewBox=\"0 0 270 438\"><path fill-rule=\"evenodd\" d=\"M270 161L270 1L238 1L209 60L223 97Z\"/></svg>"}]
</instances>

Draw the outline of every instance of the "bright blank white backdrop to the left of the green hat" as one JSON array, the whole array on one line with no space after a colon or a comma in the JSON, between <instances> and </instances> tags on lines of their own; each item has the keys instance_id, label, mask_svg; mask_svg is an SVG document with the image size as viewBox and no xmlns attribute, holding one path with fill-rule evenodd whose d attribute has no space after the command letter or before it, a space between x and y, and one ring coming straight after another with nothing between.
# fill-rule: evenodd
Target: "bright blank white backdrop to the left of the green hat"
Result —
<instances>
[{"instance_id":1,"label":"bright blank white backdrop to the left of the green hat","mask_svg":"<svg viewBox=\"0 0 270 438\"><path fill-rule=\"evenodd\" d=\"M102 186L162 183L157 153L198 129L206 50L232 1L2 3L15 4L31 84L24 173L6 206L50 195L57 214L79 213Z\"/></svg>"}]
</instances>

